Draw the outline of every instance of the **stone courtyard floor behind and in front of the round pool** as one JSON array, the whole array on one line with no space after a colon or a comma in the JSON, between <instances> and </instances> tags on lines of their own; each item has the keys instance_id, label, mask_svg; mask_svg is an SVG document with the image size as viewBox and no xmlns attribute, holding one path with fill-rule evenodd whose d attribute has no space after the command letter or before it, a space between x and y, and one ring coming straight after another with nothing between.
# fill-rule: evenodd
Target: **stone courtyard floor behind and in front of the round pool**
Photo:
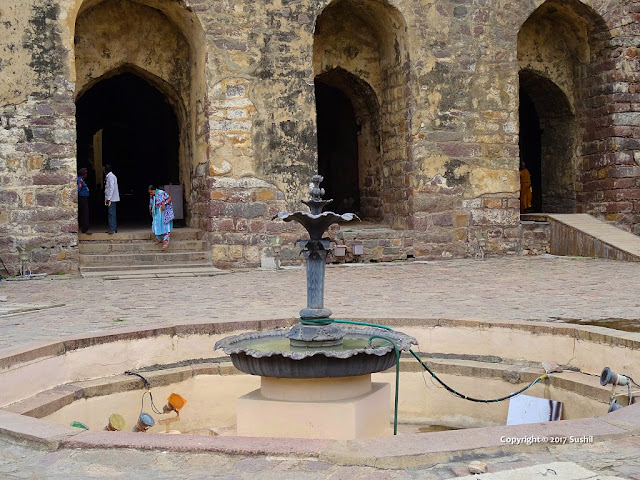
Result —
<instances>
[{"instance_id":1,"label":"stone courtyard floor behind and in front of the round pool","mask_svg":"<svg viewBox=\"0 0 640 480\"><path fill-rule=\"evenodd\" d=\"M622 320L638 326L638 285L638 263L551 256L332 266L327 270L325 303L335 318ZM7 351L123 327L294 317L305 303L305 274L287 269L161 279L62 276L0 282L2 297L6 301L0 302L0 351ZM47 452L0 438L3 479L430 479L468 475L471 460L382 470L260 456ZM640 438L549 446L478 460L487 463L490 472L511 471L507 476L504 472L478 477L486 479L640 479ZM551 462L565 463L552 468L547 465ZM533 470L526 468L531 466Z\"/></svg>"}]
</instances>

